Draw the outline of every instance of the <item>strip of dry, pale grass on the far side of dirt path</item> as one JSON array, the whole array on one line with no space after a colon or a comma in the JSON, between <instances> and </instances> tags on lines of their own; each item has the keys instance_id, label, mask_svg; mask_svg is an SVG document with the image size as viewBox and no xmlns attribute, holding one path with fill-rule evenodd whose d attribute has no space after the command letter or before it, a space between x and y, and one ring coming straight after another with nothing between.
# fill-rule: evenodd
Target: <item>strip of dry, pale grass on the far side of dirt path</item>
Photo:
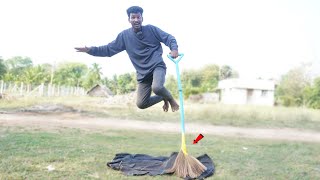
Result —
<instances>
[{"instance_id":1,"label":"strip of dry, pale grass on the far side of dirt path","mask_svg":"<svg viewBox=\"0 0 320 180\"><path fill-rule=\"evenodd\" d=\"M0 110L41 103L61 103L93 116L144 121L179 122L179 113L163 113L162 103L140 110L134 104L108 105L103 98L60 97L0 100ZM186 122L237 127L296 128L320 131L320 111L305 108L231 106L221 104L185 103Z\"/></svg>"}]
</instances>

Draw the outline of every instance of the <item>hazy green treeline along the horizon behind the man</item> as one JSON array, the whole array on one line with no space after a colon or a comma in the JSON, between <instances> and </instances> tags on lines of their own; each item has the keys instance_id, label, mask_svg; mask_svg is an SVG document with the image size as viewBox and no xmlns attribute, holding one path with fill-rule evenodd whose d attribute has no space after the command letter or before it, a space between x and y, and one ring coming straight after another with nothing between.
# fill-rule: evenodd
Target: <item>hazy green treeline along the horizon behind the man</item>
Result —
<instances>
[{"instance_id":1,"label":"hazy green treeline along the horizon behind the man","mask_svg":"<svg viewBox=\"0 0 320 180\"><path fill-rule=\"evenodd\" d=\"M309 77L306 65L291 69L276 86L276 103L284 106L320 108L320 77ZM238 77L238 72L228 65L207 65L197 70L184 70L181 74L184 97L204 92L214 92L219 80ZM57 84L82 87L89 90L96 84L109 87L115 94L134 91L137 86L134 72L103 77L102 68L93 63L64 62L53 66L45 63L34 65L28 57L0 57L0 80L25 84ZM166 87L178 96L177 81L168 75Z\"/></svg>"}]
</instances>

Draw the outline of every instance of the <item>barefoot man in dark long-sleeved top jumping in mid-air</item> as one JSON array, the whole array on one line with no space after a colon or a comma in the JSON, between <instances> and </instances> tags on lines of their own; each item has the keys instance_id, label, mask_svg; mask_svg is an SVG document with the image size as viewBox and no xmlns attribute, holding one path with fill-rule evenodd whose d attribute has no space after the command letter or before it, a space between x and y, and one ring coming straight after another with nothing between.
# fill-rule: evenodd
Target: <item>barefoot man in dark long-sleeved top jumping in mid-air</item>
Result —
<instances>
[{"instance_id":1,"label":"barefoot man in dark long-sleeved top jumping in mid-air","mask_svg":"<svg viewBox=\"0 0 320 180\"><path fill-rule=\"evenodd\" d=\"M161 43L164 43L170 48L170 55L173 58L178 57L175 37L156 26L142 26L143 9L139 6L128 8L127 14L132 27L120 32L114 41L104 46L76 47L75 49L78 52L101 57L111 57L126 50L137 72L137 106L145 109L164 101L165 112L168 111L169 104L173 112L178 111L179 105L164 87L166 64L162 59L161 46ZM151 91L154 92L154 96L151 96Z\"/></svg>"}]
</instances>

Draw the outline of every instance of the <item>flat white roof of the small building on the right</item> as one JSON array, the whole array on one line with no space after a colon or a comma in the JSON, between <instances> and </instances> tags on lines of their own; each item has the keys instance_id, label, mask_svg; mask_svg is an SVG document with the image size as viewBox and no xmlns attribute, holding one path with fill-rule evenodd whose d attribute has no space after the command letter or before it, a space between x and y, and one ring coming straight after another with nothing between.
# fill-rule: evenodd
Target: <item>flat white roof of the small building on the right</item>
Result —
<instances>
[{"instance_id":1,"label":"flat white roof of the small building on the right","mask_svg":"<svg viewBox=\"0 0 320 180\"><path fill-rule=\"evenodd\" d=\"M274 80L265 79L224 79L219 81L217 89L237 88L237 89L260 89L274 90Z\"/></svg>"}]
</instances>

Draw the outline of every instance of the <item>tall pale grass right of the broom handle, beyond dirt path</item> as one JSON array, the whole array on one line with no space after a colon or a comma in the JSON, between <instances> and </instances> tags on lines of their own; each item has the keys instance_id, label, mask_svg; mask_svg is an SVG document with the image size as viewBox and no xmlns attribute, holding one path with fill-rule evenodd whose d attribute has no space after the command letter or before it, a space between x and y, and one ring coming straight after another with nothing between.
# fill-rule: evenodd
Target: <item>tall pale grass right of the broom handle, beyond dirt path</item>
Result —
<instances>
[{"instance_id":1,"label":"tall pale grass right of the broom handle, beyond dirt path","mask_svg":"<svg viewBox=\"0 0 320 180\"><path fill-rule=\"evenodd\" d=\"M320 130L320 111L306 108L189 104L186 116L215 125Z\"/></svg>"}]
</instances>

